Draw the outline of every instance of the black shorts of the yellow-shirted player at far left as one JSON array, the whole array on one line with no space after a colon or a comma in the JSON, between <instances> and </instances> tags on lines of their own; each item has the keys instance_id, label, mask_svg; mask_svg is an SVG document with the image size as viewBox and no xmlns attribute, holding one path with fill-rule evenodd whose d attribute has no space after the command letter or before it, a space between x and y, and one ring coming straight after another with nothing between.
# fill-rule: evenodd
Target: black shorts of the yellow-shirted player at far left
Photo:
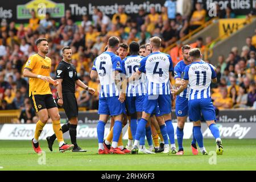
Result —
<instances>
[{"instance_id":1,"label":"black shorts of the yellow-shirted player at far left","mask_svg":"<svg viewBox=\"0 0 256 182\"><path fill-rule=\"evenodd\" d=\"M32 106L35 109L36 113L42 109L51 109L53 107L57 107L57 104L56 104L52 94L31 95L30 100L32 101Z\"/></svg>"}]
</instances>

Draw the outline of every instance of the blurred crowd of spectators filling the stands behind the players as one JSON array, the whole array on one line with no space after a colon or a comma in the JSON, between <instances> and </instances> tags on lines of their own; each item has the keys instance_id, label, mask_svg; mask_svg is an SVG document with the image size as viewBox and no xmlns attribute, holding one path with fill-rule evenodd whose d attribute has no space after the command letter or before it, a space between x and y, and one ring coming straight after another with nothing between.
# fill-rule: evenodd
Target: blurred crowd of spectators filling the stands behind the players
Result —
<instances>
[{"instance_id":1,"label":"blurred crowd of spectators filling the stands behind the players","mask_svg":"<svg viewBox=\"0 0 256 182\"><path fill-rule=\"evenodd\" d=\"M28 57L36 53L35 40L41 37L48 39L48 57L52 60L51 77L55 78L56 67L61 61L61 48L70 46L73 51L72 64L77 69L79 78L91 88L98 91L98 80L91 80L89 73L93 60L104 52L108 38L118 36L122 43L129 44L137 41L139 44L149 42L151 36L162 38L162 48L170 46L189 31L200 27L207 18L207 12L201 3L196 3L195 10L189 2L181 15L176 13L173 1L166 1L160 13L151 7L150 13L140 9L137 18L130 18L118 7L118 13L109 16L94 9L92 18L84 15L76 19L71 10L65 11L65 16L59 22L52 19L49 13L39 19L35 11L31 11L32 18L28 25L1 21L0 30L0 110L22 109L20 119L33 121L35 111L28 99L28 80L23 78L23 66ZM218 11L220 18L232 18L234 13L228 7L225 11ZM80 23L81 21L81 23ZM79 23L77 23L79 22ZM208 37L206 42L210 42ZM217 84L212 85L214 106L218 109L256 108L255 93L255 47L256 30L253 37L248 37L243 43L242 50L233 47L228 55L220 55L216 66ZM199 38L192 47L204 49L203 39ZM170 50L174 61L181 60L179 49ZM208 60L206 60L208 61ZM57 98L56 88L51 88L53 96ZM90 95L87 91L77 89L77 102L86 109L98 108L98 94Z\"/></svg>"}]
</instances>

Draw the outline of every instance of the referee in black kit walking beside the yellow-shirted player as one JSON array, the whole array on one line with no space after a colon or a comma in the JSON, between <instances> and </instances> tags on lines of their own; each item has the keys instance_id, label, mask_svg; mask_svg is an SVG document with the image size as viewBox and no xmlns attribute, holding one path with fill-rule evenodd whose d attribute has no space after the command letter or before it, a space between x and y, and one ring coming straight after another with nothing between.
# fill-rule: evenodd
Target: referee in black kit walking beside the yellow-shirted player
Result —
<instances>
[{"instance_id":1,"label":"referee in black kit walking beside the yellow-shirted player","mask_svg":"<svg viewBox=\"0 0 256 182\"><path fill-rule=\"evenodd\" d=\"M69 130L71 142L74 145L73 152L86 152L82 150L76 143L76 127L78 123L78 106L75 97L75 84L81 88L88 90L90 94L93 94L95 90L89 88L77 77L76 68L71 64L72 60L72 49L68 46L62 48L63 60L57 67L56 79L59 81L57 85L57 93L59 94L57 103L63 106L65 114L68 117L68 123L65 123L61 129L63 133ZM53 134L51 137L47 137L47 143L49 150L52 151L52 145L56 139L56 135Z\"/></svg>"}]
</instances>

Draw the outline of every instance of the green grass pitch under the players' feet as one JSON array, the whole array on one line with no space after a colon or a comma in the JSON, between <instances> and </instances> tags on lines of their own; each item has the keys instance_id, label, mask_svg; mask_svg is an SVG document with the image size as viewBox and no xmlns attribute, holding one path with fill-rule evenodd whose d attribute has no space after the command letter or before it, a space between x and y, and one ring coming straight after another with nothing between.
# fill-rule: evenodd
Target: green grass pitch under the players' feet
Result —
<instances>
[{"instance_id":1,"label":"green grass pitch under the players' feet","mask_svg":"<svg viewBox=\"0 0 256 182\"><path fill-rule=\"evenodd\" d=\"M97 140L78 140L85 153L59 152L57 141L50 152L47 142L40 141L45 151L35 154L30 141L0 141L0 171L3 170L256 170L255 139L222 139L224 155L192 155L191 140L184 140L183 156L174 154L98 155ZM126 143L126 141L124 141ZM216 150L214 139L204 139L208 153ZM39 164L38 163L41 163ZM216 164L209 164L216 162Z\"/></svg>"}]
</instances>

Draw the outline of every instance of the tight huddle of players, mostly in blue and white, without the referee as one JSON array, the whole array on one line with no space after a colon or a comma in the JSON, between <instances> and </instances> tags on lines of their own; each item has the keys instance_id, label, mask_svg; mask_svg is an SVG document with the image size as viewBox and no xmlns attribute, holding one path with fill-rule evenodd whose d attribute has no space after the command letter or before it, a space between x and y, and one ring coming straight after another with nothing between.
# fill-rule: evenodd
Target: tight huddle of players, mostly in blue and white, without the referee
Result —
<instances>
[{"instance_id":1,"label":"tight huddle of players, mostly in blue and white, without the referee","mask_svg":"<svg viewBox=\"0 0 256 182\"><path fill-rule=\"evenodd\" d=\"M200 121L204 118L216 139L216 153L221 155L223 147L210 98L210 82L217 81L215 68L201 60L200 49L191 49L185 45L182 47L184 59L173 69L170 55L160 52L160 45L161 39L157 36L142 46L137 42L131 42L129 46L119 44L118 38L113 36L109 38L105 52L94 60L90 77L99 78L101 85L98 108L100 118L97 125L98 154L171 152L183 155L183 128L189 116L193 121L192 153L198 154L197 142L201 153L208 154L201 133ZM179 88L177 90L171 85L172 71L176 87ZM171 98L176 98L179 150L175 145ZM105 124L109 116L111 130L104 140ZM122 127L127 121L129 140L124 147ZM145 136L148 149L145 148Z\"/></svg>"}]
</instances>

